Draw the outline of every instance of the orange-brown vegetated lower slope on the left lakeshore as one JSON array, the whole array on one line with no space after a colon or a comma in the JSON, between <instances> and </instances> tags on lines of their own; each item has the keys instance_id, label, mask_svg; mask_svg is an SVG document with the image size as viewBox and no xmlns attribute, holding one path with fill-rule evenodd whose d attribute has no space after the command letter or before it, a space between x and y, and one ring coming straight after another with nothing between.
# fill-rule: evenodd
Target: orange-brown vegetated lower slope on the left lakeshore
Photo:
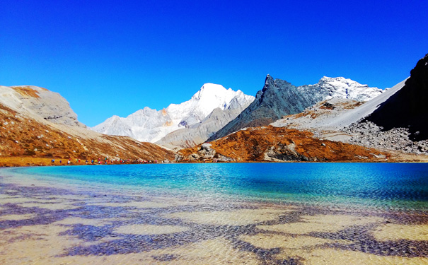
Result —
<instances>
[{"instance_id":1,"label":"orange-brown vegetated lower slope on the left lakeshore","mask_svg":"<svg viewBox=\"0 0 428 265\"><path fill-rule=\"evenodd\" d=\"M94 132L88 137L71 134L0 105L0 167L45 165L53 158L158 161L175 158L172 151L153 143L142 143L125 136L93 135Z\"/></svg>"}]
</instances>

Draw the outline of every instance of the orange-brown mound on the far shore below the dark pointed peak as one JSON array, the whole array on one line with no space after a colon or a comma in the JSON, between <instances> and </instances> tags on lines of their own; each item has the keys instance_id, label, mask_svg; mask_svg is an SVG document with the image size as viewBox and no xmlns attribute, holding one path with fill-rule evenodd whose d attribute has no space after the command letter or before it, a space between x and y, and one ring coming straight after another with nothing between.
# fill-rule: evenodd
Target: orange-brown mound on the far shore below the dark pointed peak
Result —
<instances>
[{"instance_id":1,"label":"orange-brown mound on the far shore below the dark pointed peak","mask_svg":"<svg viewBox=\"0 0 428 265\"><path fill-rule=\"evenodd\" d=\"M348 143L320 140L308 131L284 127L253 127L229 134L211 142L211 148L219 155L237 162L253 161L375 161L385 160L388 153ZM190 160L200 146L180 151ZM376 158L376 156L378 158ZM204 160L200 158L199 160ZM214 157L212 160L215 160Z\"/></svg>"}]
</instances>

